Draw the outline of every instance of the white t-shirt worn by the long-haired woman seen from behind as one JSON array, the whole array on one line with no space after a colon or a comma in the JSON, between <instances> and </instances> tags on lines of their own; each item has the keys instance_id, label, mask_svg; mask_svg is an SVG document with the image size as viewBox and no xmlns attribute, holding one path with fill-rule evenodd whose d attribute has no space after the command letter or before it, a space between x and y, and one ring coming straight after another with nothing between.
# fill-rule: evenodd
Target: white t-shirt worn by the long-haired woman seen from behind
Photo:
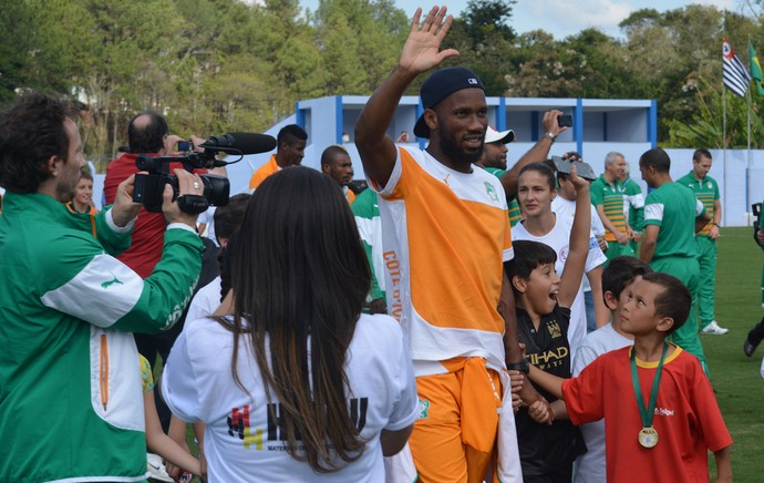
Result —
<instances>
[{"instance_id":1,"label":"white t-shirt worn by the long-haired woman seen from behind","mask_svg":"<svg viewBox=\"0 0 764 483\"><path fill-rule=\"evenodd\" d=\"M162 374L162 395L173 413L205 423L209 481L384 481L381 431L404 429L420 413L411 357L394 319L361 315L355 326L345 362L348 408L368 443L359 460L333 473L318 474L289 455L269 411L278 401L266 398L250 339L240 339L237 360L247 391L234 381L233 342L218 322L196 320L175 342Z\"/></svg>"}]
</instances>

